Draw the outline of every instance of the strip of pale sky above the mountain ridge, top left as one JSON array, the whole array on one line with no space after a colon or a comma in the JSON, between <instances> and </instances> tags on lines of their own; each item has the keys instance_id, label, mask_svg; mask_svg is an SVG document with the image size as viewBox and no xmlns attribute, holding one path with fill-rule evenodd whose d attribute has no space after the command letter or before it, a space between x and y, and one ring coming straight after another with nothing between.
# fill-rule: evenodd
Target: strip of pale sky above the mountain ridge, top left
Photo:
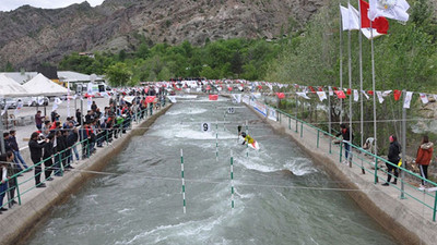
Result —
<instances>
[{"instance_id":1,"label":"strip of pale sky above the mountain ridge, top left","mask_svg":"<svg viewBox=\"0 0 437 245\"><path fill-rule=\"evenodd\" d=\"M15 10L19 7L29 4L43 9L58 9L81 3L85 0L0 0L0 11ZM92 7L99 5L104 0L86 0Z\"/></svg>"}]
</instances>

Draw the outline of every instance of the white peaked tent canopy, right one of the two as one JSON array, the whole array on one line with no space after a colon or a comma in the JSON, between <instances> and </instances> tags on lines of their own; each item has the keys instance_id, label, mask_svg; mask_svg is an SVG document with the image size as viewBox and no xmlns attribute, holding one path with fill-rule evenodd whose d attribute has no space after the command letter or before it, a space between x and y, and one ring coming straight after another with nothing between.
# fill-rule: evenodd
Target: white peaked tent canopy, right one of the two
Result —
<instances>
[{"instance_id":1,"label":"white peaked tent canopy, right one of the two","mask_svg":"<svg viewBox=\"0 0 437 245\"><path fill-rule=\"evenodd\" d=\"M67 88L51 82L40 73L23 86L34 96L62 96L68 93Z\"/></svg>"}]
</instances>

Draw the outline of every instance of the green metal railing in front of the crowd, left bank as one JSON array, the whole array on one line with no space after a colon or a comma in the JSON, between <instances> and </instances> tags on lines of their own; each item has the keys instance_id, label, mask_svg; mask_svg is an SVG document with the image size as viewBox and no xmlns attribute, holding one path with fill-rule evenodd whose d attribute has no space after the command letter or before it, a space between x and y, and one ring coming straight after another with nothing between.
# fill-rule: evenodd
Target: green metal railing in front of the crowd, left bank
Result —
<instances>
[{"instance_id":1,"label":"green metal railing in front of the crowd, left bank","mask_svg":"<svg viewBox=\"0 0 437 245\"><path fill-rule=\"evenodd\" d=\"M161 103L162 102L162 103ZM166 101L160 101L160 107L163 108L165 107ZM152 107L147 107L143 110L139 110L137 112L133 113L133 115L129 119L123 120L120 124L115 124L115 126L113 128L104 128L102 132L97 133L97 136L95 138L95 140L93 143L90 143L90 140L83 139L83 140L79 140L78 143L75 143L73 146L61 150L60 152L56 152L54 156L43 159L40 162L34 164L34 166L29 166L29 168L27 170L23 170L19 173L13 174L12 176L9 176L8 181L5 182L7 185L7 189L2 193L0 193L0 195L7 196L7 194L9 194L11 191L13 191L15 188L16 195L13 198L8 198L7 201L3 201L3 205L0 208L3 208L5 206L11 207L12 206L12 201L14 201L15 199L17 200L19 205L22 205L22 198L26 193L32 192L34 188L36 188L37 186L42 185L43 183L47 182L46 179L44 179L42 176L42 174L45 172L46 169L52 170L52 174L55 176L62 176L63 173L66 171L68 171L68 167L71 166L72 163L72 159L73 159L73 147L81 147L81 151L78 150L78 154L81 156L82 160L84 158L90 158L91 156L91 151L92 149L94 149L95 144L97 143L102 143L103 144L106 142L106 145L109 145L109 142L113 137L121 137L123 132L126 132L129 128L132 128L132 123L137 123L139 124L142 120L145 120L147 118L147 115L152 115L153 114L153 106ZM81 134L81 130L79 130L79 134ZM81 137L81 135L79 135L79 137ZM80 151L80 152L79 152ZM71 152L71 154L70 154ZM70 163L68 162L68 158L70 158ZM51 160L52 164L46 169L42 168L42 166L44 163L46 163L47 161ZM16 163L11 162L13 166L15 166ZM22 182L19 183L19 176L23 173L25 173L28 170L34 170L35 168L40 168L42 171L37 174L33 174L31 177L28 177L27 180L24 180ZM44 171L43 171L44 169ZM22 189L24 188L23 185L29 181L35 181L35 176L40 177L40 182L38 185L32 185L32 187L27 188L27 189ZM16 185L13 186L9 186L10 183L16 183ZM8 195L9 197L9 195Z\"/></svg>"}]
</instances>

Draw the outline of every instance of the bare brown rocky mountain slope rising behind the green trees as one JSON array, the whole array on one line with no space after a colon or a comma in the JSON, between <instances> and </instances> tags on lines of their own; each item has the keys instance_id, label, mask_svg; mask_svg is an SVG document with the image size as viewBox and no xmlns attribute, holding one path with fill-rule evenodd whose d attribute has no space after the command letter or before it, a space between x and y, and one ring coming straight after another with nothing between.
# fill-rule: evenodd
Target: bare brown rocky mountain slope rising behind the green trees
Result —
<instances>
[{"instance_id":1,"label":"bare brown rocky mountain slope rising behind the green trees","mask_svg":"<svg viewBox=\"0 0 437 245\"><path fill-rule=\"evenodd\" d=\"M141 39L272 38L306 22L329 0L106 0L0 12L0 66L35 70L72 51L132 50ZM144 37L144 38L143 38Z\"/></svg>"}]
</instances>

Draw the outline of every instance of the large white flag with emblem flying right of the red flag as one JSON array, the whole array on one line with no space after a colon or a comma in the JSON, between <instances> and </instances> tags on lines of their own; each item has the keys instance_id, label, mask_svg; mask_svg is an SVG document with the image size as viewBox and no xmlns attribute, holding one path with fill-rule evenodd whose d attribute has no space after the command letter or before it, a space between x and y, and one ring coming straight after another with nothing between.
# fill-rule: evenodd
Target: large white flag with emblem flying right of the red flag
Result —
<instances>
[{"instance_id":1,"label":"large white flag with emblem flying right of the red flag","mask_svg":"<svg viewBox=\"0 0 437 245\"><path fill-rule=\"evenodd\" d=\"M409 21L410 15L406 11L410 9L410 4L405 0L370 0L369 5L370 21L375 21L379 16L401 22Z\"/></svg>"}]
</instances>

